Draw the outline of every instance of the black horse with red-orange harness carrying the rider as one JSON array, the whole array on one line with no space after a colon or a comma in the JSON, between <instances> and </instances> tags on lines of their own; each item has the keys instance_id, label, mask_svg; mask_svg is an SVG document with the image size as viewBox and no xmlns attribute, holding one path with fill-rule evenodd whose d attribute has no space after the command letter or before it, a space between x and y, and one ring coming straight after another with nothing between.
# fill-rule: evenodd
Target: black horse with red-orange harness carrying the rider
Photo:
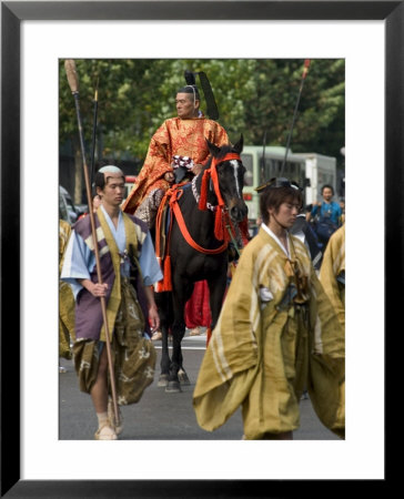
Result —
<instances>
[{"instance_id":1,"label":"black horse with red-orange harness carrying the rider","mask_svg":"<svg viewBox=\"0 0 404 499\"><path fill-rule=\"evenodd\" d=\"M181 391L180 379L183 384L190 383L182 366L181 340L185 333L184 308L192 295L194 283L208 281L212 316L211 330L218 322L222 307L229 263L225 233L225 231L229 233L229 225L222 232L222 237L218 236L216 217L219 215L216 211L222 211L224 215L229 215L233 227L245 220L248 214L248 207L242 195L245 167L240 159L243 138L241 136L234 146L218 147L209 141L206 142L211 153L206 165L191 183L181 187L182 193L179 195L176 203L176 210L181 212L180 215L171 212L173 218L169 254L171 257L173 316L171 325L172 357L170 359L168 347L169 324L165 322L161 328L163 337L161 376L159 379L159 386L165 386L165 391ZM215 173L213 170L215 170ZM204 175L206 171L208 173L212 172L209 181L208 177L203 179L206 176ZM208 185L208 193L205 197L202 195L203 201L201 201L201 189L203 191ZM179 217L183 217L183 225L186 226L189 232L188 242L183 235L183 230L180 227L182 223ZM222 226L224 225L222 224ZM194 245L198 245L199 249L194 248ZM161 299L159 302L161 303ZM170 309L170 304L168 305ZM171 313L166 316L169 322L171 322L170 316Z\"/></svg>"}]
</instances>

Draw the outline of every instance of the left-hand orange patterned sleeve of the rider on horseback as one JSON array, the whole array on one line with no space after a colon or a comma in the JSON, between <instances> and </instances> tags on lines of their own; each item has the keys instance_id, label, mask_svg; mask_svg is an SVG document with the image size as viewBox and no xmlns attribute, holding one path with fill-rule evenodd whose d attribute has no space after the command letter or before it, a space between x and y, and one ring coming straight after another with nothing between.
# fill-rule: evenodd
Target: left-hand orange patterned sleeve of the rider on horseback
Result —
<instances>
[{"instance_id":1,"label":"left-hand orange patterned sleeve of the rider on horseback","mask_svg":"<svg viewBox=\"0 0 404 499\"><path fill-rule=\"evenodd\" d=\"M170 133L164 122L150 141L143 166L137 176L132 191L122 204L122 211L133 214L151 189L166 189L163 175L171 172Z\"/></svg>"}]
</instances>

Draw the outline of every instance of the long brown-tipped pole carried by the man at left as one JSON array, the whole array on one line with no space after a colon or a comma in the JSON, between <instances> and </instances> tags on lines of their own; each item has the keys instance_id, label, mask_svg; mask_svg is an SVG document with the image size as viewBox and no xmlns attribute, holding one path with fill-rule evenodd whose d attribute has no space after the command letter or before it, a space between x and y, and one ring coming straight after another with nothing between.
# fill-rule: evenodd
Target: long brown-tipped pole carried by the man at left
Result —
<instances>
[{"instance_id":1,"label":"long brown-tipped pole carried by the man at left","mask_svg":"<svg viewBox=\"0 0 404 499\"><path fill-rule=\"evenodd\" d=\"M89 169L88 169L87 161L85 161L84 134L83 134L83 126L82 126L81 113L80 113L79 79L78 79L78 74L75 71L74 60L67 59L64 61L64 69L65 69L65 73L68 77L70 90L74 96L75 114L77 114L78 126L79 126L81 156L82 156L82 162L83 162L85 192L87 192L87 200L88 200L88 205L89 205L89 216L90 216L90 223L91 223L91 234L92 234L94 255L95 255L97 278L98 278L98 282L100 284L102 284L100 253L99 253L99 247L98 247L98 242L97 242L95 221L94 221L94 213L92 211L92 195L91 195L91 186L90 186L90 179L89 179ZM111 355L111 345L110 345L111 338L110 338L110 332L109 332L108 319L107 319L105 297L101 296L100 302L101 302L102 318L103 318L104 330L105 330L107 357L108 357L108 365L109 365L109 371L110 371L113 410L114 410L114 416L115 416L115 424L117 424L117 426L119 426L120 417L119 417L118 403L117 403L115 376L114 376L114 371L113 371L113 361L112 361L112 355Z\"/></svg>"}]
</instances>

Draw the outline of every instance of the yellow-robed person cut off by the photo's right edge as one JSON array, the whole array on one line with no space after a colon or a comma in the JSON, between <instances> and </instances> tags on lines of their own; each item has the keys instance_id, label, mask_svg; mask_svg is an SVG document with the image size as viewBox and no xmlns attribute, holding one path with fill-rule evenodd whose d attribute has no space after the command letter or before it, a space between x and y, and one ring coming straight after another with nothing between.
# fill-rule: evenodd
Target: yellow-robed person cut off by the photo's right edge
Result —
<instances>
[{"instance_id":1,"label":"yellow-robed person cut off by the photo's right edge","mask_svg":"<svg viewBox=\"0 0 404 499\"><path fill-rule=\"evenodd\" d=\"M320 282L345 327L345 224L330 237L320 268Z\"/></svg>"}]
</instances>

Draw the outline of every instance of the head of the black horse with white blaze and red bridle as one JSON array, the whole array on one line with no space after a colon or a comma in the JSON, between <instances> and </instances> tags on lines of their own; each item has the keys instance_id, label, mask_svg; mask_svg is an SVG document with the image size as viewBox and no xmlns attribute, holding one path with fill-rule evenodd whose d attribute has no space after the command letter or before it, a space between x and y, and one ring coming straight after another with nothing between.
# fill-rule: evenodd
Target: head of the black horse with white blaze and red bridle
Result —
<instances>
[{"instance_id":1,"label":"head of the black horse with white blaze and red bridle","mask_svg":"<svg viewBox=\"0 0 404 499\"><path fill-rule=\"evenodd\" d=\"M243 135L240 136L239 142L233 146L223 145L218 147L208 140L206 143L212 157L216 162L220 193L229 210L231 220L239 223L248 214L248 207L243 200L245 167L240 157L243 150ZM232 153L238 157L228 159Z\"/></svg>"}]
</instances>

